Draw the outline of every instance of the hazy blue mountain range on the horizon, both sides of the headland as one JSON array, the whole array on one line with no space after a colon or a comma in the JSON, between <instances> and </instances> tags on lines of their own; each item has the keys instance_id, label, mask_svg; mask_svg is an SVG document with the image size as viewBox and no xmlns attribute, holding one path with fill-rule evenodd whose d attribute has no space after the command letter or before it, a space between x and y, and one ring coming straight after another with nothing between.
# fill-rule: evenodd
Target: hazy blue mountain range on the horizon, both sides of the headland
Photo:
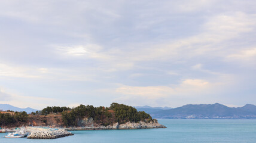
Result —
<instances>
[{"instance_id":1,"label":"hazy blue mountain range on the horizon, both sides of the headland","mask_svg":"<svg viewBox=\"0 0 256 143\"><path fill-rule=\"evenodd\" d=\"M178 108L136 106L154 119L256 119L256 106L246 104L243 107L227 107L222 104L188 104ZM9 104L0 104L0 110L37 111L33 108L19 108Z\"/></svg>"}]
</instances>

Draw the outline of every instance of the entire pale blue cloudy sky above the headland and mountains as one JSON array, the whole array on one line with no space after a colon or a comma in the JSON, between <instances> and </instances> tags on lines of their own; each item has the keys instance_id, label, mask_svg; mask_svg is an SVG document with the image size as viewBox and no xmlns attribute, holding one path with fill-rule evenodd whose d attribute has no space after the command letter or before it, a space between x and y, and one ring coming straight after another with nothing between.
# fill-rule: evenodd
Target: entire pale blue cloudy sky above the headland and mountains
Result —
<instances>
[{"instance_id":1,"label":"entire pale blue cloudy sky above the headland and mountains","mask_svg":"<svg viewBox=\"0 0 256 143\"><path fill-rule=\"evenodd\" d=\"M256 1L0 1L0 104L256 104Z\"/></svg>"}]
</instances>

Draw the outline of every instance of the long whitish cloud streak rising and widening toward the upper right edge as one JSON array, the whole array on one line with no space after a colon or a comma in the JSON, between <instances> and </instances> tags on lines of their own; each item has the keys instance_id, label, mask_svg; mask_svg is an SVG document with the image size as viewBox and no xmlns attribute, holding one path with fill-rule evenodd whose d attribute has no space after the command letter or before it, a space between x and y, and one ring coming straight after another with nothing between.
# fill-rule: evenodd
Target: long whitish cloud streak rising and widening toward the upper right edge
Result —
<instances>
[{"instance_id":1,"label":"long whitish cloud streak rising and widening toward the upper right edge","mask_svg":"<svg viewBox=\"0 0 256 143\"><path fill-rule=\"evenodd\" d=\"M200 33L172 42L137 43L123 50L105 52L117 60L139 61L187 61L198 56L225 58L232 50L227 46L234 38L251 32L256 24L256 15L242 12L218 14L206 19L200 26ZM138 47L138 48L137 48ZM127 49L130 49L129 51Z\"/></svg>"}]
</instances>

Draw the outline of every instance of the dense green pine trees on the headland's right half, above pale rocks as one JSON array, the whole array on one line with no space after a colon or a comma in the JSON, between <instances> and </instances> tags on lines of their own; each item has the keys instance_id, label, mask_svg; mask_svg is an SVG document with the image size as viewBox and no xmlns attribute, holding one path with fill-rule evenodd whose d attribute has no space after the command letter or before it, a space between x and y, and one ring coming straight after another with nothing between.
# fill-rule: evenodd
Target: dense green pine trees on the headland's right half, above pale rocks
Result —
<instances>
[{"instance_id":1,"label":"dense green pine trees on the headland's right half, above pale rocks","mask_svg":"<svg viewBox=\"0 0 256 143\"><path fill-rule=\"evenodd\" d=\"M114 111L114 113L110 113L109 110ZM62 113L62 120L65 126L78 126L78 123L85 117L92 117L94 122L103 126L112 125L115 122L144 121L148 123L153 121L150 114L144 111L137 111L136 108L131 106L117 103L112 103L110 108L80 105L71 111L63 111Z\"/></svg>"}]
</instances>

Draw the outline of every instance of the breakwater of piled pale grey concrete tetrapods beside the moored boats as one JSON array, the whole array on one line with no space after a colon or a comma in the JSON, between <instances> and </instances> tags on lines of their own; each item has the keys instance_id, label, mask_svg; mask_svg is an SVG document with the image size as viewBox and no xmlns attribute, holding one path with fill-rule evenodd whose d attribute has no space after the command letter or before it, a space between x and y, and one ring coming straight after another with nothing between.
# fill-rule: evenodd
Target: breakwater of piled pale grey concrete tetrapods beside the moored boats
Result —
<instances>
[{"instance_id":1,"label":"breakwater of piled pale grey concrete tetrapods beside the moored boats","mask_svg":"<svg viewBox=\"0 0 256 143\"><path fill-rule=\"evenodd\" d=\"M27 128L27 130L30 132L29 139L55 139L74 135L65 129Z\"/></svg>"}]
</instances>

